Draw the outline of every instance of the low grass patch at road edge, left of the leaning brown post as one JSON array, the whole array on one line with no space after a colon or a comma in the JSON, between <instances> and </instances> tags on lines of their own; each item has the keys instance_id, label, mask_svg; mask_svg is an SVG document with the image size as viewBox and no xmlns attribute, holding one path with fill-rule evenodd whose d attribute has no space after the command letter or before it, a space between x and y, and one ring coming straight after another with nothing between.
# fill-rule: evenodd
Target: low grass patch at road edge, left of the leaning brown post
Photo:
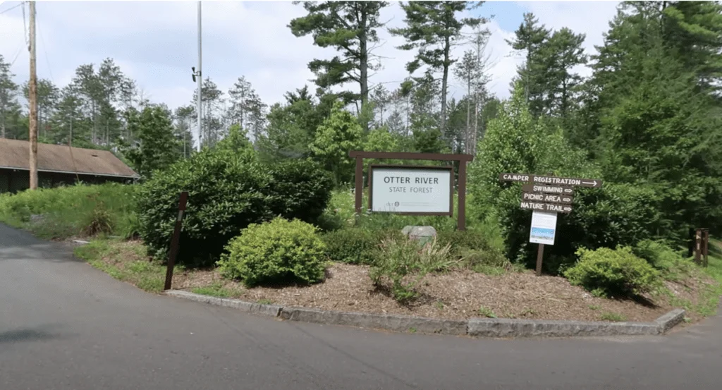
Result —
<instances>
[{"instance_id":1,"label":"low grass patch at road edge, left of the leaning brown post","mask_svg":"<svg viewBox=\"0 0 722 390\"><path fill-rule=\"evenodd\" d=\"M165 266L149 261L145 246L138 241L99 239L74 249L75 256L117 280L129 282L149 293L160 293L165 283ZM182 267L175 267L181 272Z\"/></svg>"}]
</instances>

